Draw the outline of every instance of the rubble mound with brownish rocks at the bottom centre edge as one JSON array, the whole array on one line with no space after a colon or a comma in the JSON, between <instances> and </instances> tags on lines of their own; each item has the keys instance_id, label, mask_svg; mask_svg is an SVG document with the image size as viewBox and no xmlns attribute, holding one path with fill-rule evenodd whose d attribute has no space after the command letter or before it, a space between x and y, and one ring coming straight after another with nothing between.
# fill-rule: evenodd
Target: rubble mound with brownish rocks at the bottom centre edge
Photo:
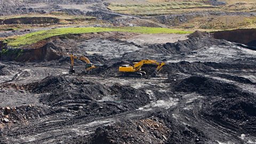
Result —
<instances>
[{"instance_id":1,"label":"rubble mound with brownish rocks at the bottom centre edge","mask_svg":"<svg viewBox=\"0 0 256 144\"><path fill-rule=\"evenodd\" d=\"M155 119L117 122L98 128L91 143L164 143L167 127Z\"/></svg>"}]
</instances>

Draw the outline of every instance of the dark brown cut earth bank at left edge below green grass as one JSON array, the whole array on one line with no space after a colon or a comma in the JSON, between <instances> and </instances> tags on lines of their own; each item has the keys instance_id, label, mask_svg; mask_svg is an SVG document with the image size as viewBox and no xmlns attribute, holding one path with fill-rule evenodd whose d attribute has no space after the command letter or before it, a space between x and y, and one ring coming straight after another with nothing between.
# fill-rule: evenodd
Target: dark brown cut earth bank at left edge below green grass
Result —
<instances>
[{"instance_id":1,"label":"dark brown cut earth bank at left edge below green grass","mask_svg":"<svg viewBox=\"0 0 256 144\"><path fill-rule=\"evenodd\" d=\"M2 50L0 55L4 61L50 61L60 59L62 56L57 52L61 52L61 47L57 47L52 43L47 43L39 49L11 49Z\"/></svg>"}]
</instances>

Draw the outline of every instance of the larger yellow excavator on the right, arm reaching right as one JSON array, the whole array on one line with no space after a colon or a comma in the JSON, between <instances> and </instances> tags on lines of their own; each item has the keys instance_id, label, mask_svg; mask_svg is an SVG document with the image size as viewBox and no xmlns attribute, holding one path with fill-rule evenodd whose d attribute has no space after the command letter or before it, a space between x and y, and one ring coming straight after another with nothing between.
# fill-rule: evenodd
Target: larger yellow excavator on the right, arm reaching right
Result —
<instances>
[{"instance_id":1,"label":"larger yellow excavator on the right, arm reaching right","mask_svg":"<svg viewBox=\"0 0 256 144\"><path fill-rule=\"evenodd\" d=\"M165 62L145 59L145 60L141 60L140 62L133 62L133 66L132 65L122 65L121 67L119 67L119 72L122 73L122 76L142 77L142 76L146 75L145 71L141 71L141 67L144 64L157 65L157 68L153 73L154 75L156 75L156 73L158 73L163 68L163 66L165 65Z\"/></svg>"}]
</instances>

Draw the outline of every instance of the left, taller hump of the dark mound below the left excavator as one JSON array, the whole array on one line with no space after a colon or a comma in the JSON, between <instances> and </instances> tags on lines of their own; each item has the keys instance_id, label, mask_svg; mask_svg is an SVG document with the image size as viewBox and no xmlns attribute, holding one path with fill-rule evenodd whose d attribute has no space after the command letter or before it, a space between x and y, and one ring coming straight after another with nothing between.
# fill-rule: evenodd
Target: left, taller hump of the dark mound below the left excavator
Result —
<instances>
[{"instance_id":1,"label":"left, taller hump of the dark mound below the left excavator","mask_svg":"<svg viewBox=\"0 0 256 144\"><path fill-rule=\"evenodd\" d=\"M51 93L44 95L40 100L47 105L56 105L67 100L99 100L110 94L109 90L99 83L67 76L47 77L35 86L33 92Z\"/></svg>"}]
</instances>

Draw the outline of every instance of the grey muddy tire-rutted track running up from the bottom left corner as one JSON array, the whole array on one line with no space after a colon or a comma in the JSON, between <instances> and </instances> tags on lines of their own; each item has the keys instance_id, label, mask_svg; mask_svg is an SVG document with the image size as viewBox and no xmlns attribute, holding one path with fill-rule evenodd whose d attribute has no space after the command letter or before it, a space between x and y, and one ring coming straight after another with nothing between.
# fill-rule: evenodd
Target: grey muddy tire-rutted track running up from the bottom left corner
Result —
<instances>
[{"instance_id":1,"label":"grey muddy tire-rutted track running up from the bottom left corner","mask_svg":"<svg viewBox=\"0 0 256 144\"><path fill-rule=\"evenodd\" d=\"M90 135L99 126L113 124L116 121L121 121L122 119L126 118L137 119L150 114L151 113L148 113L148 111L135 110L119 115L93 119L93 121L86 121L86 119L70 118L69 122L72 124L67 124L64 126L57 125L63 123L63 119L65 118L54 119L55 122L50 119L40 122L39 124L35 122L37 126L32 129L29 129L29 127L26 127L28 129L20 129L21 131L18 130L17 132L22 133L22 135L19 135L18 137L12 137L11 140L8 140L13 143L64 143L59 140L65 140L74 137L75 135ZM33 129L37 129L37 131L33 131Z\"/></svg>"}]
</instances>

